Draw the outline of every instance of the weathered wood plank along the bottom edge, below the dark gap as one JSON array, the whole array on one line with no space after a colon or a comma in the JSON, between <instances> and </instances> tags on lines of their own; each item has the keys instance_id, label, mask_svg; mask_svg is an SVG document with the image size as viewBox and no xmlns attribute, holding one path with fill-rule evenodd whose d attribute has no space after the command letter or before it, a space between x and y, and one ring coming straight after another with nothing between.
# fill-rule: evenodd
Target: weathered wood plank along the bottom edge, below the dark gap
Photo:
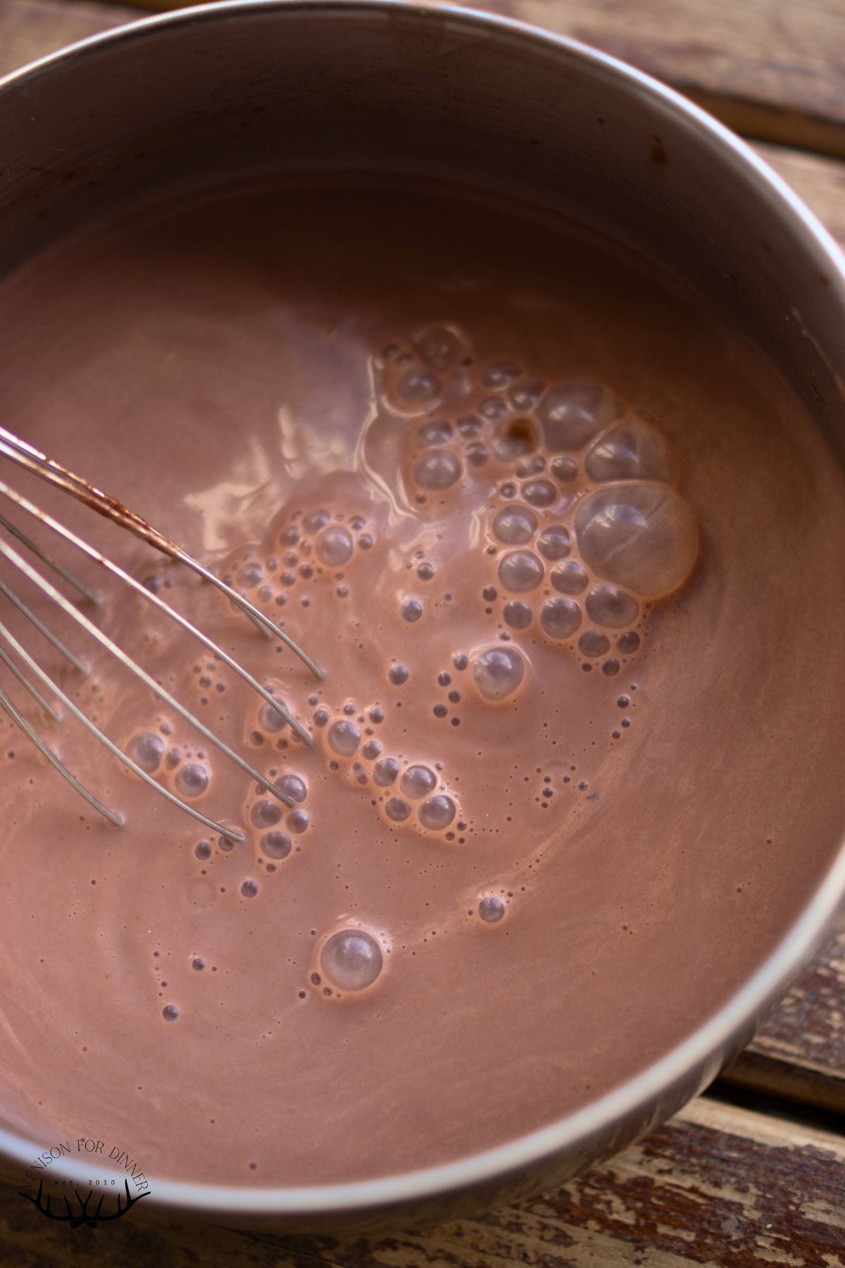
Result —
<instances>
[{"instance_id":1,"label":"weathered wood plank along the bottom edge, below the dark gap","mask_svg":"<svg viewBox=\"0 0 845 1268\"><path fill-rule=\"evenodd\" d=\"M71 1240L72 1239L72 1240ZM702 1098L533 1202L372 1241L136 1219L71 1232L0 1189L0 1262L46 1268L718 1268L845 1265L845 1139Z\"/></svg>"}]
</instances>

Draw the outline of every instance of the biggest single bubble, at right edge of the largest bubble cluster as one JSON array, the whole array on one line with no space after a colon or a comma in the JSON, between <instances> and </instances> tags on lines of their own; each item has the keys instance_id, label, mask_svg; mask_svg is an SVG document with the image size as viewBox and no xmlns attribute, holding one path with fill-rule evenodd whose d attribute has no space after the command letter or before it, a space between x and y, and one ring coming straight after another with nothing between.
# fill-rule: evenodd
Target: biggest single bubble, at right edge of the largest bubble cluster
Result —
<instances>
[{"instance_id":1,"label":"biggest single bubble, at right edge of the largest bubble cluster","mask_svg":"<svg viewBox=\"0 0 845 1268\"><path fill-rule=\"evenodd\" d=\"M678 590L698 554L689 503L665 484L618 484L589 493L575 511L584 562L641 598Z\"/></svg>"}]
</instances>

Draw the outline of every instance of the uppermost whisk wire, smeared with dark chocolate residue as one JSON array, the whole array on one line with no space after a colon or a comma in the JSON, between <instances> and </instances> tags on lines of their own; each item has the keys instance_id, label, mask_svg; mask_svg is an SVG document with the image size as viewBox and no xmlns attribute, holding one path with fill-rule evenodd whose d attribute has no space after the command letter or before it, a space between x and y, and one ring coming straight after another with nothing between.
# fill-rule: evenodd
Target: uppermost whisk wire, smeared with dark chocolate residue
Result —
<instances>
[{"instance_id":1,"label":"uppermost whisk wire, smeared with dark chocolate residue","mask_svg":"<svg viewBox=\"0 0 845 1268\"><path fill-rule=\"evenodd\" d=\"M215 577L210 569L205 568L198 559L182 550L181 547L171 541L170 538L155 529L152 524L148 524L144 519L137 515L134 511L129 511L128 507L118 502L117 498L109 497L108 493L103 493L101 489L96 488L94 484L89 484L87 481L82 479L81 476L76 476L73 472L67 470L61 467L52 458L47 458L33 445L27 444L27 441L20 440L13 432L6 431L5 427L0 427L0 454L11 459L24 470L32 472L33 476L38 476L41 479L47 481L48 484L53 484L56 488L61 488L65 493L70 493L77 501L82 502L85 506L91 507L91 510L98 511L100 515L111 520L114 524L119 524L122 527L128 529L142 541L148 543L157 550L168 555L171 559L177 559L184 563L185 567L190 568L204 581L208 581L215 590L219 590L227 596L241 611L246 612L247 616L256 624L269 638L277 638L290 648L290 650L299 657L299 659L308 666L314 677L324 678L326 673L314 661L308 656L303 648L299 647L289 634L271 621L269 616L245 598L243 595L238 595L236 590L228 586L219 577Z\"/></svg>"}]
</instances>

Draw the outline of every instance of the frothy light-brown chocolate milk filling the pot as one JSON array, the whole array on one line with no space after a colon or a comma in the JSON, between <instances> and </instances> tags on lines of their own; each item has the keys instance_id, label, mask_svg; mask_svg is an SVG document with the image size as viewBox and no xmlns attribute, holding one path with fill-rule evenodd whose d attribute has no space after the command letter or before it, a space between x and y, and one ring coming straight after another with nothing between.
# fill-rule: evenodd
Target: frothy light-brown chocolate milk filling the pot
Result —
<instances>
[{"instance_id":1,"label":"frothy light-brown chocolate milk filling the pot","mask_svg":"<svg viewBox=\"0 0 845 1268\"><path fill-rule=\"evenodd\" d=\"M726 321L516 204L348 180L101 227L8 278L0 322L3 424L326 670L0 473L314 737L72 560L283 805L27 590L90 663L27 633L63 690L233 836L38 719L114 829L0 715L8 1126L151 1177L414 1170L619 1085L774 948L845 820L845 500Z\"/></svg>"}]
</instances>

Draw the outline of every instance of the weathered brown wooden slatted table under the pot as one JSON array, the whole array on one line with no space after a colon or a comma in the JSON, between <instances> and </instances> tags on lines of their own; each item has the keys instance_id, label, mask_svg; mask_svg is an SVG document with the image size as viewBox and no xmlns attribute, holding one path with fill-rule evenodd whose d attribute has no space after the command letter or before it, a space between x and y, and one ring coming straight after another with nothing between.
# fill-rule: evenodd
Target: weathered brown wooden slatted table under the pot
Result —
<instances>
[{"instance_id":1,"label":"weathered brown wooden slatted table under the pot","mask_svg":"<svg viewBox=\"0 0 845 1268\"><path fill-rule=\"evenodd\" d=\"M845 0L490 0L486 8L595 44L682 89L751 137L845 242ZM137 16L111 4L0 0L0 74ZM70 1236L0 1186L0 1264L15 1268L845 1268L845 935L704 1097L533 1202L378 1241L165 1219Z\"/></svg>"}]
</instances>

